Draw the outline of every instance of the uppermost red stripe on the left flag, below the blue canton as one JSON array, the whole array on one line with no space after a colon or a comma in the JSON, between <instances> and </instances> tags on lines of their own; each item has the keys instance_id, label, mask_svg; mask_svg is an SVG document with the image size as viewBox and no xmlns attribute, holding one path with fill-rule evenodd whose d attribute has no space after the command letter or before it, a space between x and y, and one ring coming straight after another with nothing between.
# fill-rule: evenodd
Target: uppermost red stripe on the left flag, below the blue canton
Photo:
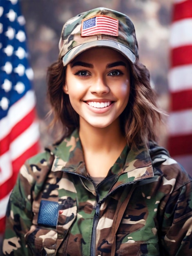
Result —
<instances>
[{"instance_id":1,"label":"uppermost red stripe on the left flag, below the blue canton","mask_svg":"<svg viewBox=\"0 0 192 256\"><path fill-rule=\"evenodd\" d=\"M19 135L21 135L35 120L35 108L33 108L25 117L22 118L9 132L7 136L5 136L0 141L0 155L3 155L5 152L9 150L9 146L11 142L16 139Z\"/></svg>"}]
</instances>

